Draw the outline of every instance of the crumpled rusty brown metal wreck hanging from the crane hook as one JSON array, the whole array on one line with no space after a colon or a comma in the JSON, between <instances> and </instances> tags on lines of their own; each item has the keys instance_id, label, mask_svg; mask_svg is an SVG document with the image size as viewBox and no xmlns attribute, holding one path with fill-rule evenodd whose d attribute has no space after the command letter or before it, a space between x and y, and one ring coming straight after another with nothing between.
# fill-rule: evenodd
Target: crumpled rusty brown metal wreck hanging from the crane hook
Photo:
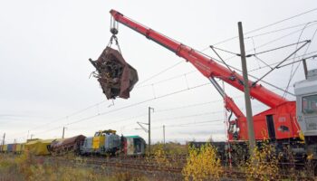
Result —
<instances>
[{"instance_id":1,"label":"crumpled rusty brown metal wreck hanging from the crane hook","mask_svg":"<svg viewBox=\"0 0 317 181\"><path fill-rule=\"evenodd\" d=\"M101 89L108 100L116 97L130 98L130 91L139 81L138 72L125 62L120 52L108 46L97 61L89 61L97 69L94 76L101 83Z\"/></svg>"}]
</instances>

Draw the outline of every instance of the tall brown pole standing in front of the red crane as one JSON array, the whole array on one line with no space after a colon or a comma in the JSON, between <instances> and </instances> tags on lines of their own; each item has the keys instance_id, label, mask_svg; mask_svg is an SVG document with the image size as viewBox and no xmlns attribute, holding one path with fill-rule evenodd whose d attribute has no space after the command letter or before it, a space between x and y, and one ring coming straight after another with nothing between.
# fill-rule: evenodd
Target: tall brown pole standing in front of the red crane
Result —
<instances>
[{"instance_id":1,"label":"tall brown pole standing in front of the red crane","mask_svg":"<svg viewBox=\"0 0 317 181\"><path fill-rule=\"evenodd\" d=\"M251 100L250 100L250 90L249 90L249 80L247 78L247 68L245 61L245 40L244 33L242 29L242 23L238 22L239 28L239 40L240 40L240 51L241 51L241 64L242 71L244 76L244 87L245 87L245 110L246 110L246 120L247 120L247 129L248 129L248 137L250 144L250 156L253 156L253 151L255 149L255 129L254 129L254 121L252 118L252 108L251 108Z\"/></svg>"}]
</instances>

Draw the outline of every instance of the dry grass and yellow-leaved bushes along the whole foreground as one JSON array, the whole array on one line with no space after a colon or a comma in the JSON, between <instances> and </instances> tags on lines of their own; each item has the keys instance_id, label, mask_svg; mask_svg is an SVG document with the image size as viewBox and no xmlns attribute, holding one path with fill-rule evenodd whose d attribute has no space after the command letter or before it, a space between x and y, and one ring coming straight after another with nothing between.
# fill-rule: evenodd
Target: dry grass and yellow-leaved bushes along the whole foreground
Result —
<instances>
[{"instance_id":1,"label":"dry grass and yellow-leaved bushes along the whole foreground","mask_svg":"<svg viewBox=\"0 0 317 181\"><path fill-rule=\"evenodd\" d=\"M132 171L126 168L91 167L85 161L90 159L89 157L64 156L67 160L74 160L68 163L53 161L54 159L48 159L47 157L34 157L28 153L20 156L0 154L0 180L143 181L184 179L202 181L234 178L235 175L229 175L228 170L242 173L243 179L247 180L300 180L300 176L313 175L312 161L310 160L300 171L294 167L289 169L279 167L280 157L275 154L274 147L268 141L264 141L260 148L255 148L254 157L246 159L245 152L236 151L235 157L239 157L239 154L242 154L242 156L235 160L235 167L233 168L222 165L217 149L208 144L202 148L185 148L184 145L178 143L157 144L153 146L152 151L153 156L146 157L146 163L149 166L158 167L158 170L165 170L165 172L157 171L157 176L154 176L154 172L149 170L137 169ZM136 157L135 159L140 159L140 163L144 162L142 157ZM134 161L137 163L138 160ZM292 159L289 158L288 161L292 162ZM181 174L169 173L167 168L173 167L182 169ZM237 178L239 176L241 175L237 175Z\"/></svg>"}]
</instances>

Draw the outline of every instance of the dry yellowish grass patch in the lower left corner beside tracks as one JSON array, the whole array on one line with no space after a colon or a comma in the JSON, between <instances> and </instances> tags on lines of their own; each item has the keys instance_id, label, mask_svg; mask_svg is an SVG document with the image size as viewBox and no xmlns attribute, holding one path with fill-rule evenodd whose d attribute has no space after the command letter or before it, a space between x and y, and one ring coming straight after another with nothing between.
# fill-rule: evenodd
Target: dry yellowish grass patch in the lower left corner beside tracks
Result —
<instances>
[{"instance_id":1,"label":"dry yellowish grass patch in the lower left corner beside tracks","mask_svg":"<svg viewBox=\"0 0 317 181\"><path fill-rule=\"evenodd\" d=\"M101 168L106 169L106 168ZM141 176L129 172L115 172L109 175L106 170L78 165L61 165L47 162L46 159L35 158L24 153L21 156L0 155L0 180L30 180L30 181L142 181Z\"/></svg>"}]
</instances>

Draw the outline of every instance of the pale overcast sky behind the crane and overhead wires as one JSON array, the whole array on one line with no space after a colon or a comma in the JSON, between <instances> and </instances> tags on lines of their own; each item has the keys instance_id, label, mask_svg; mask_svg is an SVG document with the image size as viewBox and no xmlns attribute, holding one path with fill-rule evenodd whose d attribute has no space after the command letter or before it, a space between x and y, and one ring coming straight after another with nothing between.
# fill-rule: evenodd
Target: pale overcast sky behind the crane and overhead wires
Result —
<instances>
[{"instance_id":1,"label":"pale overcast sky behind the crane and overhead wires","mask_svg":"<svg viewBox=\"0 0 317 181\"><path fill-rule=\"evenodd\" d=\"M163 125L168 141L207 140L211 135L216 140L225 140L223 102L215 88L207 84L208 80L175 53L122 24L118 34L120 48L125 60L138 70L139 83L129 100L117 99L114 104L106 100L99 82L89 79L94 68L88 59L96 60L109 43L110 9L215 57L208 46L235 37L239 21L246 33L317 8L315 0L0 2L0 135L6 133L6 142L14 139L23 142L27 135L59 138L63 126L67 128L66 137L92 136L99 129L116 129L119 134L147 139L136 122L148 121L149 106L154 108L151 115L154 142L162 141ZM312 39L317 30L313 21L317 21L316 10L245 34L245 49L250 53L262 52ZM315 54L316 41L314 37L311 45L297 56ZM236 38L216 47L239 52ZM259 58L265 63L280 62L295 49L296 46L291 46ZM224 59L232 56L219 53ZM226 62L241 69L239 57ZM247 63L250 73L257 77L269 71L254 57L248 58ZM294 64L293 70L297 65ZM317 68L315 60L309 60L308 65L309 69ZM291 71L292 66L278 69L264 81L284 89ZM300 65L289 91L293 92L295 81L303 79ZM274 87L267 88L283 95L283 91ZM165 96L179 90L184 91ZM225 90L245 111L242 92L230 85ZM291 95L287 99L294 100ZM254 100L253 108L257 113L266 107Z\"/></svg>"}]
</instances>

